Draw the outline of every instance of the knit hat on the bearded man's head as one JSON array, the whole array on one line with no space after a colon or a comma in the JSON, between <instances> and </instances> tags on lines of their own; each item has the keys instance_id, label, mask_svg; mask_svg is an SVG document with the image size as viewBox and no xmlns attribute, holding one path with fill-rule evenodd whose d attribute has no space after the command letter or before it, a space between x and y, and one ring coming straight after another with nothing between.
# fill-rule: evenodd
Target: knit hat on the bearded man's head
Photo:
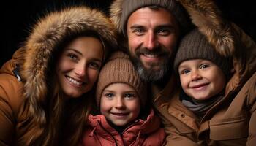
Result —
<instances>
[{"instance_id":1,"label":"knit hat on the bearded man's head","mask_svg":"<svg viewBox=\"0 0 256 146\"><path fill-rule=\"evenodd\" d=\"M122 4L121 28L123 34L126 34L127 20L132 12L141 7L159 6L169 10L178 20L181 31L189 26L189 18L187 12L181 7L176 0L124 0Z\"/></svg>"}]
</instances>

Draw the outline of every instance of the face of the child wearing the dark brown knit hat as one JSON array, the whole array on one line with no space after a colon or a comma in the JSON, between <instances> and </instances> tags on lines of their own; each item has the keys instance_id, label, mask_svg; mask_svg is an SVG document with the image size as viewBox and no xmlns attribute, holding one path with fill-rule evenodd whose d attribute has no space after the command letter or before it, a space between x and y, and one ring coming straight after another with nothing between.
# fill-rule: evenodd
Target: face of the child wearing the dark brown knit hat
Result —
<instances>
[{"instance_id":1,"label":"face of the child wearing the dark brown knit hat","mask_svg":"<svg viewBox=\"0 0 256 146\"><path fill-rule=\"evenodd\" d=\"M225 88L225 74L208 60L184 61L178 66L178 74L184 92L197 100L209 99Z\"/></svg>"}]
</instances>

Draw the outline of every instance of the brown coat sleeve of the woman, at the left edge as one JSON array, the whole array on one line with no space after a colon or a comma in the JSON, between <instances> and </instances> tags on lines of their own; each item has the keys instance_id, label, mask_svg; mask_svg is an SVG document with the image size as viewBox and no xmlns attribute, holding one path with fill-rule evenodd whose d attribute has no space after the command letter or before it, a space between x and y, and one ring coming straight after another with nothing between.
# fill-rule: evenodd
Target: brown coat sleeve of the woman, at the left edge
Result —
<instances>
[{"instance_id":1,"label":"brown coat sleeve of the woman, at the left edge","mask_svg":"<svg viewBox=\"0 0 256 146\"><path fill-rule=\"evenodd\" d=\"M10 74L0 74L0 145L12 145L18 112L23 103L23 84Z\"/></svg>"}]
</instances>

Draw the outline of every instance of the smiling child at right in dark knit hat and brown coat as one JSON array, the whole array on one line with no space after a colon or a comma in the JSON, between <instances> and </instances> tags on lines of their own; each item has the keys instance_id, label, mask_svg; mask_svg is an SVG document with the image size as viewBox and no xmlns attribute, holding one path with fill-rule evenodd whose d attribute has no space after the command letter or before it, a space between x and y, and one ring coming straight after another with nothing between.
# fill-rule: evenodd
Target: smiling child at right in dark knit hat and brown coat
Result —
<instances>
[{"instance_id":1,"label":"smiling child at right in dark knit hat and brown coat","mask_svg":"<svg viewBox=\"0 0 256 146\"><path fill-rule=\"evenodd\" d=\"M174 62L182 90L170 101L168 144L255 145L256 73L236 69L197 29L182 39Z\"/></svg>"}]
</instances>

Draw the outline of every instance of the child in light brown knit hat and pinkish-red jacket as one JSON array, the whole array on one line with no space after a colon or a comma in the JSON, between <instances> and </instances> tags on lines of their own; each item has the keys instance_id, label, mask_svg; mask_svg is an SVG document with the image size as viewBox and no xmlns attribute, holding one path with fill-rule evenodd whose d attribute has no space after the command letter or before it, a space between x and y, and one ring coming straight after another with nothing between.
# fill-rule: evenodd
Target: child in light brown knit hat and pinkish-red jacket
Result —
<instances>
[{"instance_id":1,"label":"child in light brown knit hat and pinkish-red jacket","mask_svg":"<svg viewBox=\"0 0 256 146\"><path fill-rule=\"evenodd\" d=\"M164 145L165 132L147 104L146 82L128 55L113 53L103 66L96 101L100 114L89 115L83 145Z\"/></svg>"}]
</instances>

